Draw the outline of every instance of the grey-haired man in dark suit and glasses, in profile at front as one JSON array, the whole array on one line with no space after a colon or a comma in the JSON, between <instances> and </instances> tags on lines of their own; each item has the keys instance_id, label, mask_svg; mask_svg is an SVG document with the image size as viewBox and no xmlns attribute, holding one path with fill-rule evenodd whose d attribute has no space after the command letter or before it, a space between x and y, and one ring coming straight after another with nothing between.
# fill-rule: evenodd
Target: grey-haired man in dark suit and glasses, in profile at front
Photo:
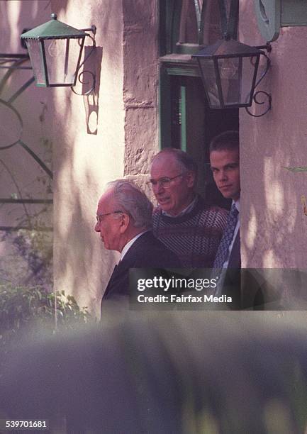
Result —
<instances>
[{"instance_id":1,"label":"grey-haired man in dark suit and glasses, in profile at front","mask_svg":"<svg viewBox=\"0 0 307 434\"><path fill-rule=\"evenodd\" d=\"M132 182L109 182L99 200L96 232L107 250L121 253L103 301L128 295L130 268L179 268L174 253L152 234L152 203Z\"/></svg>"}]
</instances>

